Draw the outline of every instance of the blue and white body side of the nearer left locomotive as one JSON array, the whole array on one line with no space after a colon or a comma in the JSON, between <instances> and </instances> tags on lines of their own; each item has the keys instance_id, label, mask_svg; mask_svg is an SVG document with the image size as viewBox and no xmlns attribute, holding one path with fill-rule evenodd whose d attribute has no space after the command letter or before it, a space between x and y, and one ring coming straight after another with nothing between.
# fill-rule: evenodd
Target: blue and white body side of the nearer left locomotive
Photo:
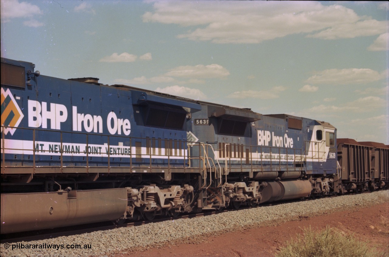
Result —
<instances>
[{"instance_id":1,"label":"blue and white body side of the nearer left locomotive","mask_svg":"<svg viewBox=\"0 0 389 257\"><path fill-rule=\"evenodd\" d=\"M2 61L33 70L32 63L8 59ZM189 111L200 108L194 101L182 101L146 91L142 93L140 89L100 86L44 75L35 77L30 84L25 88L2 88L2 92L12 94L14 103L23 115L14 133L4 135L8 145L11 143L12 148L20 149L10 154L5 151L7 163L32 165L32 145L35 148L35 165L41 166L59 166L61 158L64 166L85 166L86 159L89 166L107 166L108 156L110 166L128 166L130 163L137 166L150 161L168 165L165 156L169 147L172 151L177 147L177 154L173 154L177 158L170 160L170 164L182 166L184 163L180 156L184 155L186 149L185 122L181 128L146 126L142 104L164 105L173 111L186 113L184 108ZM146 97L147 103L133 98L140 94ZM2 113L5 107L4 103ZM151 156L152 151L145 148L151 146L152 139L159 139L156 145L166 152L159 150L158 153L157 150ZM61 142L63 154L60 153ZM135 152L137 142L142 147L139 154Z\"/></svg>"}]
</instances>

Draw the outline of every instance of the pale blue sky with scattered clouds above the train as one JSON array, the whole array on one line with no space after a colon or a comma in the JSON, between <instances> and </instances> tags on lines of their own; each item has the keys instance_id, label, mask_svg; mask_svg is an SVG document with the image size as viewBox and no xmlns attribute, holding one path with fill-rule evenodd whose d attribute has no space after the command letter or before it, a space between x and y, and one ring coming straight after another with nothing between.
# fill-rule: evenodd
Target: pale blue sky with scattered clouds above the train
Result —
<instances>
[{"instance_id":1,"label":"pale blue sky with scattered clouds above the train","mask_svg":"<svg viewBox=\"0 0 389 257\"><path fill-rule=\"evenodd\" d=\"M1 56L389 144L388 2L1 0Z\"/></svg>"}]
</instances>

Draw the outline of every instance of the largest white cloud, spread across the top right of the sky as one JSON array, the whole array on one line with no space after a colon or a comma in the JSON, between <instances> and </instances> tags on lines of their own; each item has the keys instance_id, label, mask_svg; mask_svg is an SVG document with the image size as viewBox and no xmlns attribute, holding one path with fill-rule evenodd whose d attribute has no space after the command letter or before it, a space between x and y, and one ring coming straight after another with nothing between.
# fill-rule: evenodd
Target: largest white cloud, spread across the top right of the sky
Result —
<instances>
[{"instance_id":1,"label":"largest white cloud, spread across the top right of the sky","mask_svg":"<svg viewBox=\"0 0 389 257\"><path fill-rule=\"evenodd\" d=\"M342 5L276 1L161 1L144 22L200 26L179 38L214 43L259 43L286 35L313 33L322 39L385 33L387 21L358 16Z\"/></svg>"}]
</instances>

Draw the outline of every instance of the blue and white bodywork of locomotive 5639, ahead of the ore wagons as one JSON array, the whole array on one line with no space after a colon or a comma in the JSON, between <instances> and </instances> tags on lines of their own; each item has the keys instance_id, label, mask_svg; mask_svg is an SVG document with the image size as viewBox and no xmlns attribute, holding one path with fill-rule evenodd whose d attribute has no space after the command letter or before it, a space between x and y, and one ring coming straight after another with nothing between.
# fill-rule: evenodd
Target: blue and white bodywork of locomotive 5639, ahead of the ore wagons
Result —
<instances>
[{"instance_id":1,"label":"blue and white bodywork of locomotive 5639, ahead of the ore wagons","mask_svg":"<svg viewBox=\"0 0 389 257\"><path fill-rule=\"evenodd\" d=\"M222 167L227 163L230 170L235 169L236 171L244 168L250 168L253 171L286 171L302 168L307 174L336 173L335 147L333 148L335 153L331 159L328 154L325 158L321 158L322 161L307 157L309 146L314 145L311 140L314 126L317 126L315 120L285 114L263 115L257 121L247 122L245 131L241 135L227 135L220 133L222 118L209 116L212 111L208 109L212 108L213 106L203 103L202 111L192 114L187 129L193 133L198 142L212 145L216 150L216 156L212 157L218 159ZM247 111L247 116L251 115L252 113ZM238 120L239 118L230 116L230 119ZM300 120L301 128L288 127L288 119ZM208 123L196 124L197 120ZM198 154L198 150L193 149L192 151ZM321 153L323 154L324 152Z\"/></svg>"}]
</instances>

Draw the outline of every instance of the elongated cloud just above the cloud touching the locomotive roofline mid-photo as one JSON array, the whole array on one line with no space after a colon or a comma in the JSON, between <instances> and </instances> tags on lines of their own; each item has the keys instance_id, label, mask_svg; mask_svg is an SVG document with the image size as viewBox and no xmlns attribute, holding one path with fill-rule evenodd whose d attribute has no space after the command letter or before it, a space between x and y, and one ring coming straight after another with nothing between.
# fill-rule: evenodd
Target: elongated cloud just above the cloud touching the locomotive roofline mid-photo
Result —
<instances>
[{"instance_id":1,"label":"elongated cloud just above the cloud touching the locomotive roofline mid-photo","mask_svg":"<svg viewBox=\"0 0 389 257\"><path fill-rule=\"evenodd\" d=\"M230 75L230 72L221 65L186 65L179 66L170 70L165 74L171 77L184 77L184 78L223 78Z\"/></svg>"}]
</instances>

